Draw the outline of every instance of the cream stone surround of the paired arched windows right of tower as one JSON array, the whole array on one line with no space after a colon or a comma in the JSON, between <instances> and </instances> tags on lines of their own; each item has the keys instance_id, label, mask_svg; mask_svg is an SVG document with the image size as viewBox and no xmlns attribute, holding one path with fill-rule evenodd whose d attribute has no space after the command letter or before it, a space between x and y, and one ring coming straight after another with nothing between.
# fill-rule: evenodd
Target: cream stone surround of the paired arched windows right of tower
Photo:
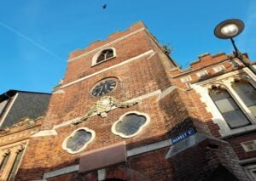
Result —
<instances>
[{"instance_id":1,"label":"cream stone surround of the paired arched windows right of tower","mask_svg":"<svg viewBox=\"0 0 256 181\"><path fill-rule=\"evenodd\" d=\"M191 84L191 88L194 88L197 93L201 94L201 101L207 105L207 112L212 113L212 122L218 124L218 127L220 128L219 133L221 136L228 136L230 134L241 133L252 129L256 129L255 117L247 108L247 106L243 103L243 101L240 99L239 95L231 87L232 82L235 82L237 78L247 79L246 81L251 83L253 88L256 88L256 77L252 76L250 72L247 71L247 68L239 71L226 73L224 75L207 79L202 82L196 82L194 84ZM218 107L215 105L214 101L209 95L208 89L211 88L212 85L225 88L227 92L230 93L230 96L232 97L232 99L234 99L234 101L239 106L244 115L247 117L248 121L252 124L245 127L231 129L228 126L228 123L224 120L224 117L222 116L220 111L218 110Z\"/></svg>"}]
</instances>

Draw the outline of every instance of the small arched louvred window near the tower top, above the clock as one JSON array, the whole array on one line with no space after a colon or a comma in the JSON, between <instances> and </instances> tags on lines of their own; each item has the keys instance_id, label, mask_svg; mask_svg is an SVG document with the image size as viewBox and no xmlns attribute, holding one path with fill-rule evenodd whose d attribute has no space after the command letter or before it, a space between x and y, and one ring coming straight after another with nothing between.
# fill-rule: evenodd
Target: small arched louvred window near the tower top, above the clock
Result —
<instances>
[{"instance_id":1,"label":"small arched louvred window near the tower top, above the clock","mask_svg":"<svg viewBox=\"0 0 256 181\"><path fill-rule=\"evenodd\" d=\"M115 49L114 48L107 48L103 49L101 52L97 53L94 58L92 59L92 65L96 65L106 61L108 59L112 59L115 57Z\"/></svg>"}]
</instances>

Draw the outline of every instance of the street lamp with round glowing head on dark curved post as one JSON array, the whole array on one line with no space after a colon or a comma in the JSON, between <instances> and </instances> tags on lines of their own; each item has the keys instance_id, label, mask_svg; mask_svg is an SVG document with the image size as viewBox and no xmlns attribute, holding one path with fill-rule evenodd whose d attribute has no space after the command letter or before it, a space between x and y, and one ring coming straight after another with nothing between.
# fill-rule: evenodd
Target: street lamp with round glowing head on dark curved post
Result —
<instances>
[{"instance_id":1,"label":"street lamp with round glowing head on dark curved post","mask_svg":"<svg viewBox=\"0 0 256 181\"><path fill-rule=\"evenodd\" d=\"M243 31L244 29L244 23L241 20L237 19L230 19L230 20L224 20L221 23L219 23L215 29L214 29L214 35L220 39L230 39L232 42L233 48L235 49L234 54L236 58L240 59L241 62L246 65L246 67L253 71L254 74L256 74L256 70L253 68L253 65L248 63L245 59L243 59L241 52L236 47L235 41L233 37L236 37Z\"/></svg>"}]
</instances>

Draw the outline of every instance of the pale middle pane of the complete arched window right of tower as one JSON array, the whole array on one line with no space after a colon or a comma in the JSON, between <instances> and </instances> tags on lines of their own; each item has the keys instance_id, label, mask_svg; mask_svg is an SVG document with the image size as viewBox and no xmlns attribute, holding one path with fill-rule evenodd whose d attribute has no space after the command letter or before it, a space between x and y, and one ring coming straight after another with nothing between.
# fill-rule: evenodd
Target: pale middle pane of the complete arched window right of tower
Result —
<instances>
[{"instance_id":1,"label":"pale middle pane of the complete arched window right of tower","mask_svg":"<svg viewBox=\"0 0 256 181\"><path fill-rule=\"evenodd\" d=\"M218 110L220 110L220 112L222 112L222 113L239 109L238 106L236 105L235 101L232 98L218 100L215 103L218 107Z\"/></svg>"}]
</instances>

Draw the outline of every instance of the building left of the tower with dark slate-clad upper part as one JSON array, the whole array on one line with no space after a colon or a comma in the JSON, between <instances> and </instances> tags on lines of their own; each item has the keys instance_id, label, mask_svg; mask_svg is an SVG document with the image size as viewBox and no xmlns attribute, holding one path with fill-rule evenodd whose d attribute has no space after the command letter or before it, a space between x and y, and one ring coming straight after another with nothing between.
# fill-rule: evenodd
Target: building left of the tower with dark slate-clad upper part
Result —
<instances>
[{"instance_id":1,"label":"building left of the tower with dark slate-clad upper part","mask_svg":"<svg viewBox=\"0 0 256 181\"><path fill-rule=\"evenodd\" d=\"M0 95L0 180L14 180L32 134L40 130L49 93L9 90Z\"/></svg>"}]
</instances>

